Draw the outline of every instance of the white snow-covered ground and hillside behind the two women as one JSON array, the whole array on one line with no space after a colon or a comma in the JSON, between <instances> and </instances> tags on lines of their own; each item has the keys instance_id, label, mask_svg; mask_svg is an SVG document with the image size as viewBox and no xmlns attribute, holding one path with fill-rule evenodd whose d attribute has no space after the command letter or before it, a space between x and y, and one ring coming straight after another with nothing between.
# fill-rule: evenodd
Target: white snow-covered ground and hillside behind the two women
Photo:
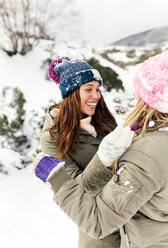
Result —
<instances>
[{"instance_id":1,"label":"white snow-covered ground and hillside behind the two women","mask_svg":"<svg viewBox=\"0 0 168 248\"><path fill-rule=\"evenodd\" d=\"M24 120L19 137L26 137L18 149L15 143L9 143L9 137L0 136L0 235L2 248L35 248L35 247L77 247L77 227L53 203L52 192L40 182L31 172L31 162L40 150L39 136L46 108L61 99L58 86L46 80L46 69L42 67L47 58L70 57L72 59L90 58L94 56L104 66L115 70L123 81L125 92L105 92L103 95L110 110L123 104L131 106L132 78L139 66L122 68L111 60L100 55L105 48L61 45L55 50L46 49L49 44L41 43L36 49L25 56L7 56L0 51L0 116L6 115L8 121L16 119L13 96L10 90L18 88L23 92ZM108 50L109 48L106 48ZM110 48L112 49L112 48ZM121 49L121 48L120 48ZM163 48L164 49L164 48ZM131 61L126 56L127 49L122 48L112 54L114 61ZM137 50L135 57L141 54ZM14 106L14 107L12 107ZM115 114L118 122L123 122L122 116ZM12 137L10 139L12 140ZM17 136L14 136L17 138ZM65 238L66 237L66 238Z\"/></svg>"}]
</instances>

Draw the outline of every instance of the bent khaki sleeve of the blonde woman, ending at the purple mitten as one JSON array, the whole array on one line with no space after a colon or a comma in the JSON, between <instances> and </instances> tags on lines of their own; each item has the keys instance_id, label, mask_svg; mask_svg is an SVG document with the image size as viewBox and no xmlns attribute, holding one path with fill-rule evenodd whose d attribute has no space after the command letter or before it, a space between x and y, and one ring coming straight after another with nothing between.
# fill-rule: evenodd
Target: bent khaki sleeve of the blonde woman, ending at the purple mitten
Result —
<instances>
[{"instance_id":1,"label":"bent khaki sleeve of the blonde woman, ending at the purple mitten","mask_svg":"<svg viewBox=\"0 0 168 248\"><path fill-rule=\"evenodd\" d=\"M64 168L49 180L55 202L93 238L123 226L163 184L159 165L142 152L127 152L120 166L117 179L114 175L95 198L69 179Z\"/></svg>"}]
</instances>

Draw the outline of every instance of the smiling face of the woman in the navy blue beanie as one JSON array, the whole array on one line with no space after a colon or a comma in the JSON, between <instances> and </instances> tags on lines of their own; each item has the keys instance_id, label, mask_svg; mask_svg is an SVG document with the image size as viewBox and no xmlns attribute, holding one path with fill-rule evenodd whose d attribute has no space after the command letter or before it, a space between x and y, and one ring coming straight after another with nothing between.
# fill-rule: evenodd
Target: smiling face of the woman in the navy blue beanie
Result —
<instances>
[{"instance_id":1,"label":"smiling face of the woman in the navy blue beanie","mask_svg":"<svg viewBox=\"0 0 168 248\"><path fill-rule=\"evenodd\" d=\"M81 113L83 115L92 116L98 101L100 100L100 85L96 81L88 82L80 86Z\"/></svg>"}]
</instances>

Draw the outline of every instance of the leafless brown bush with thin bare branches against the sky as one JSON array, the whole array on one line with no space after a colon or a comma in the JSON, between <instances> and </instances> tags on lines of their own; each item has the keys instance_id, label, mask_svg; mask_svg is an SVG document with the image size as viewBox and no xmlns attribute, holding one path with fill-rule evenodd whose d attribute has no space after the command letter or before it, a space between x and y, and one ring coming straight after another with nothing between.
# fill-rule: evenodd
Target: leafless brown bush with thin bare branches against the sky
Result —
<instances>
[{"instance_id":1,"label":"leafless brown bush with thin bare branches against the sky","mask_svg":"<svg viewBox=\"0 0 168 248\"><path fill-rule=\"evenodd\" d=\"M54 40L57 34L73 33L71 29L76 29L76 23L67 24L73 20L67 8L72 1L0 0L0 32L3 30L5 36L1 44L3 50L25 54L41 39Z\"/></svg>"}]
</instances>

